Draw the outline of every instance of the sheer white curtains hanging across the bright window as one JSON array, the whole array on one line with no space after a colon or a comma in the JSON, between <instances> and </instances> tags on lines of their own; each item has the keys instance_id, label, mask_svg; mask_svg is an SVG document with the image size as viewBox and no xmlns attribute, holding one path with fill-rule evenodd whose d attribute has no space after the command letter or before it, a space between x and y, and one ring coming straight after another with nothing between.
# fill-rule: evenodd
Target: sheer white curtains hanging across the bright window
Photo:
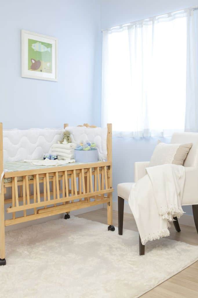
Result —
<instances>
[{"instance_id":1,"label":"sheer white curtains hanging across the bright window","mask_svg":"<svg viewBox=\"0 0 198 298\"><path fill-rule=\"evenodd\" d=\"M187 9L103 31L102 125L134 137L184 130L193 16Z\"/></svg>"}]
</instances>

